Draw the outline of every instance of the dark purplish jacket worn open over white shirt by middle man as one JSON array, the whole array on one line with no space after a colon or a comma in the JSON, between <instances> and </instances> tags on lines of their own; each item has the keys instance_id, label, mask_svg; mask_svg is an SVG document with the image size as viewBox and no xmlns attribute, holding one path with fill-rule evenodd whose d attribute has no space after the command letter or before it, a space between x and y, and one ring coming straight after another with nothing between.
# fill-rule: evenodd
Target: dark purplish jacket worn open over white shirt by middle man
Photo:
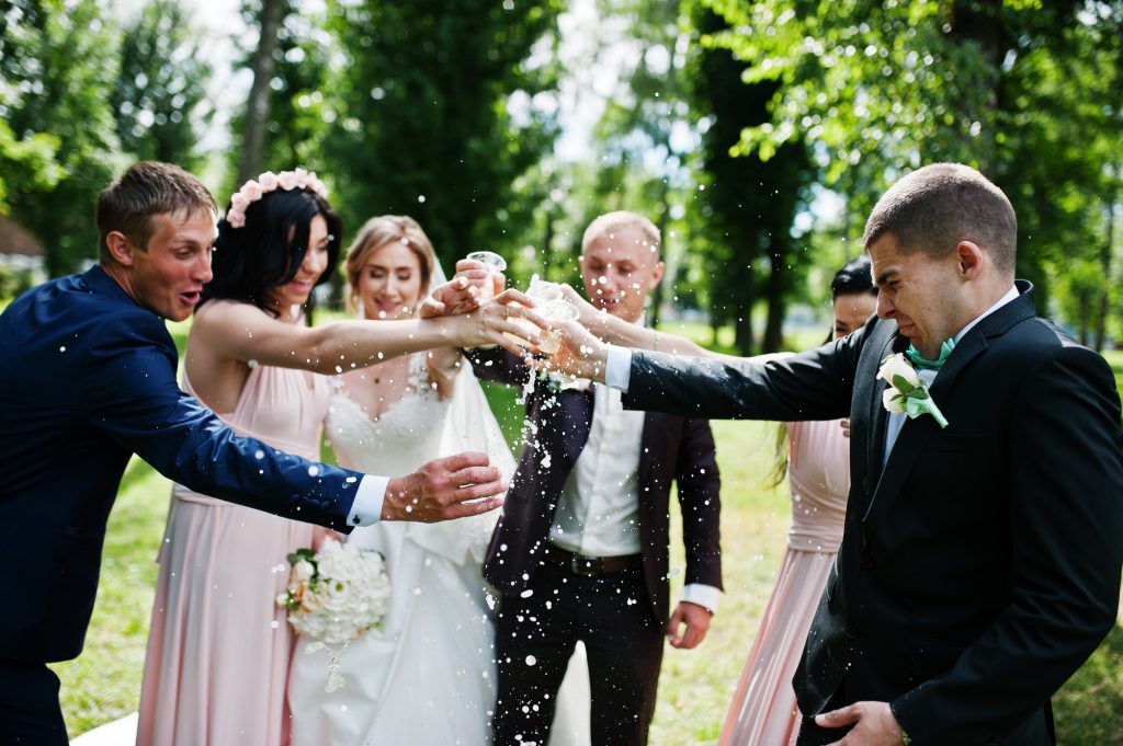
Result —
<instances>
[{"instance_id":1,"label":"dark purplish jacket worn open over white shirt by middle man","mask_svg":"<svg viewBox=\"0 0 1123 746\"><path fill-rule=\"evenodd\" d=\"M468 353L476 376L520 386L530 370L505 350ZM585 448L593 417L593 392L549 392L539 383L527 397L532 433L511 479L503 516L495 527L484 563L484 577L503 593L524 590L541 563L566 479ZM544 455L548 454L548 459ZM721 588L720 478L710 423L696 417L649 412L643 418L638 464L639 531L643 574L651 611L666 621L670 605L670 482L678 481L686 544L686 582Z\"/></svg>"}]
</instances>

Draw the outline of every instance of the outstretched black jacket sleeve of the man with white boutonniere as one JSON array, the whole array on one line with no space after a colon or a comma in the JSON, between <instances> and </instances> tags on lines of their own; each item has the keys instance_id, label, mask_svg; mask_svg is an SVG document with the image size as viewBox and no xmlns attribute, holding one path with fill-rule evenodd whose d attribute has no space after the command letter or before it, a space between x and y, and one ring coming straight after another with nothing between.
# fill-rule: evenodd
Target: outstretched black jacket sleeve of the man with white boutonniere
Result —
<instances>
[{"instance_id":1,"label":"outstretched black jacket sleeve of the man with white boutonniere","mask_svg":"<svg viewBox=\"0 0 1123 746\"><path fill-rule=\"evenodd\" d=\"M850 412L858 354L870 328L767 362L633 351L624 406L707 420L844 417Z\"/></svg>"}]
</instances>

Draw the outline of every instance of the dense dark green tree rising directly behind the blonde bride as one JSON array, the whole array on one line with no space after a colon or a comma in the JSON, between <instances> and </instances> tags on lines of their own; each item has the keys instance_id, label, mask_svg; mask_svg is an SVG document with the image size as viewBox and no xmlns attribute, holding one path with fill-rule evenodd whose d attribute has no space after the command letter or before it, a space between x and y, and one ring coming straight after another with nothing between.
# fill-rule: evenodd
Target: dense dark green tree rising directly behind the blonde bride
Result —
<instances>
[{"instance_id":1,"label":"dense dark green tree rising directly behind the blonde bride","mask_svg":"<svg viewBox=\"0 0 1123 746\"><path fill-rule=\"evenodd\" d=\"M348 224L414 215L442 261L512 247L512 184L553 146L559 0L332 2L344 61L326 155ZM548 99L548 96L547 96ZM542 105L540 105L542 104Z\"/></svg>"}]
</instances>

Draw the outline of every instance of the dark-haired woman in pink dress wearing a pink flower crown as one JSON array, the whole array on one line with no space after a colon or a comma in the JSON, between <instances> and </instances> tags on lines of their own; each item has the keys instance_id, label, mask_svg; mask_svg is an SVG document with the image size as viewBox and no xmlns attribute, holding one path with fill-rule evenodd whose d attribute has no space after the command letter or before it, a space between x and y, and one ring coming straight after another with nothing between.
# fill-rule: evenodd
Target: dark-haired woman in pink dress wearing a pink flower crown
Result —
<instances>
[{"instance_id":1,"label":"dark-haired woman in pink dress wearing a pink flower crown","mask_svg":"<svg viewBox=\"0 0 1123 746\"><path fill-rule=\"evenodd\" d=\"M341 225L326 194L314 174L296 169L262 174L234 195L183 367L184 390L232 429L313 459L331 400L325 374L438 346L510 344L502 333L518 328L508 316L527 315L490 303L440 319L301 324L312 289L339 256ZM467 288L453 285L438 287L428 303L437 311L474 305ZM433 375L445 370L438 366ZM317 543L318 531L173 486L139 745L289 743L285 682L294 637L275 598L287 580L285 556Z\"/></svg>"}]
</instances>

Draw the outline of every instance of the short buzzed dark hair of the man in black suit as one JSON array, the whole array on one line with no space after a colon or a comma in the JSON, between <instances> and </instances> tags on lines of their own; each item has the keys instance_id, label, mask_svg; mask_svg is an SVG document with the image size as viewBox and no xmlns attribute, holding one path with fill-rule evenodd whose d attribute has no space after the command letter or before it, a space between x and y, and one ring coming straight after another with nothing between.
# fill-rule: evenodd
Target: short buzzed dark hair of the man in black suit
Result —
<instances>
[{"instance_id":1,"label":"short buzzed dark hair of the man in black suit","mask_svg":"<svg viewBox=\"0 0 1123 746\"><path fill-rule=\"evenodd\" d=\"M989 252L998 271L1014 275L1017 218L1002 190L969 166L940 163L917 168L877 201L862 245L892 233L904 254L944 257L959 241Z\"/></svg>"}]
</instances>

